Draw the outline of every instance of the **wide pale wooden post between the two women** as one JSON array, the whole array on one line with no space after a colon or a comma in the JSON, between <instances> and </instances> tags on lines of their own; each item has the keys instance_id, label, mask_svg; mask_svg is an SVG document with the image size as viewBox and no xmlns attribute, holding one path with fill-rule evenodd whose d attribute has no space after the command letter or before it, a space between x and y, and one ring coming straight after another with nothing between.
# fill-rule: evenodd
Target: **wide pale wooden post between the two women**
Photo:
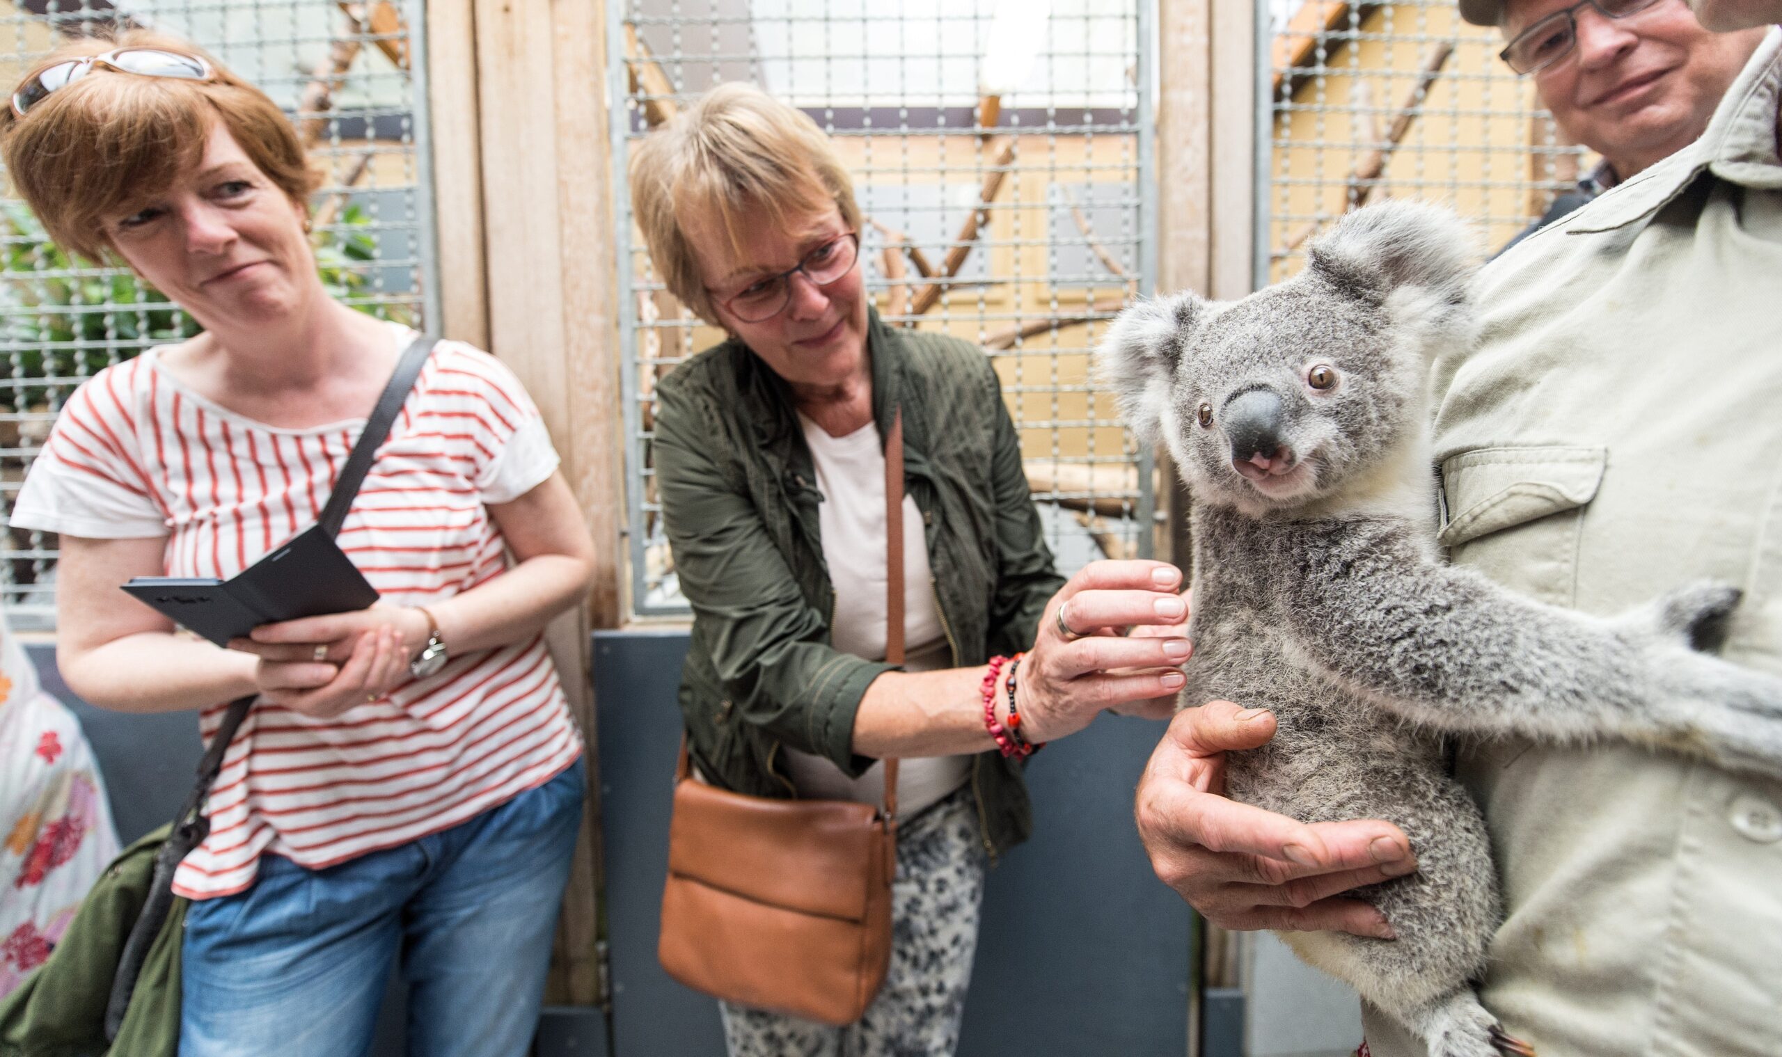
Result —
<instances>
[{"instance_id":1,"label":"wide pale wooden post between the two women","mask_svg":"<svg viewBox=\"0 0 1782 1057\"><path fill-rule=\"evenodd\" d=\"M588 629L618 624L622 569L618 314L602 91L606 11L597 2L469 0L469 5L488 348L513 367L538 403L599 560L590 604L549 631L563 688L588 740L590 781L547 1000L586 1005L604 1000L595 950L601 783L593 775ZM440 73L463 77L463 71ZM446 223L449 217L442 214Z\"/></svg>"}]
</instances>

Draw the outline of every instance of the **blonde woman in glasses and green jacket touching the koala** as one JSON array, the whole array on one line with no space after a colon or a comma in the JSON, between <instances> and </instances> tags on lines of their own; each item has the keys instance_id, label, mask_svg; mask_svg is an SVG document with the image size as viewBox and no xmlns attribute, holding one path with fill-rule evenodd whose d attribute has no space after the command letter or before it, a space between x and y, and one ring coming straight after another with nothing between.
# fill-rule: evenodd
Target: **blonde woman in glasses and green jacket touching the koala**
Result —
<instances>
[{"instance_id":1,"label":"blonde woman in glasses and green jacket touching the koala","mask_svg":"<svg viewBox=\"0 0 1782 1057\"><path fill-rule=\"evenodd\" d=\"M658 390L656 479L693 604L691 758L727 790L873 804L880 761L902 768L884 987L839 1028L725 1004L731 1055L952 1053L985 861L1032 827L1021 761L1108 708L1169 713L1181 574L1057 576L989 356L871 308L861 210L811 118L713 89L643 141L631 193L670 292L729 333ZM900 668L884 663L896 412ZM1092 635L1126 626L1142 631Z\"/></svg>"}]
</instances>

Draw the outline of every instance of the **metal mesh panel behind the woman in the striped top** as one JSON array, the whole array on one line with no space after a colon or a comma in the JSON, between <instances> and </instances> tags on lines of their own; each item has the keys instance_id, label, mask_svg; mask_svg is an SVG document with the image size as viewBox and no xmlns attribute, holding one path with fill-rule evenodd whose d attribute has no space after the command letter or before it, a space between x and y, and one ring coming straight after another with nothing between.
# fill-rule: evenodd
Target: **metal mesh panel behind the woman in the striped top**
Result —
<instances>
[{"instance_id":1,"label":"metal mesh panel behind the woman in the striped top","mask_svg":"<svg viewBox=\"0 0 1782 1057\"><path fill-rule=\"evenodd\" d=\"M421 14L417 0L14 0L0 4L0 80L16 84L71 36L150 29L200 45L292 116L326 173L314 246L330 292L424 326L437 294ZM0 508L11 512L68 394L198 324L127 269L66 255L21 201L0 210ZM14 624L48 626L55 537L9 526L0 545Z\"/></svg>"}]
</instances>

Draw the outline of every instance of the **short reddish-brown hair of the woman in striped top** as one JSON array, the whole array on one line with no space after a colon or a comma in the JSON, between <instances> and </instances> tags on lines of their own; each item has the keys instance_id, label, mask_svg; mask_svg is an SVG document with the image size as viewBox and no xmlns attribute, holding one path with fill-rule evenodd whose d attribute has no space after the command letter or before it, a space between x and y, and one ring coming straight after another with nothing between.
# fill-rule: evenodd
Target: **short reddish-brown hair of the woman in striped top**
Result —
<instances>
[{"instance_id":1,"label":"short reddish-brown hair of the woman in striped top","mask_svg":"<svg viewBox=\"0 0 1782 1057\"><path fill-rule=\"evenodd\" d=\"M200 55L216 77L180 80L94 70L37 100L23 118L0 105L0 150L12 185L62 248L103 260L110 248L103 217L166 191L182 171L198 166L217 121L292 201L307 201L321 185L321 173L278 103L178 37L146 30L116 39L86 37L34 66L25 78L55 62L112 48Z\"/></svg>"}]
</instances>

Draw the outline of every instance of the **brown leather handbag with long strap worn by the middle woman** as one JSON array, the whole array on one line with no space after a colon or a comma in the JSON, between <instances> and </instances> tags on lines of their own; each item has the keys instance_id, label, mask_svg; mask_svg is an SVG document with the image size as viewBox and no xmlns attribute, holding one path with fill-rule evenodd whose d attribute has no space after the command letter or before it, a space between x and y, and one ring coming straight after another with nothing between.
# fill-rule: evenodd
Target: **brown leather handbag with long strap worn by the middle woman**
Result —
<instances>
[{"instance_id":1,"label":"brown leather handbag with long strap worn by the middle woman","mask_svg":"<svg viewBox=\"0 0 1782 1057\"><path fill-rule=\"evenodd\" d=\"M903 663L903 415L886 440L886 660ZM884 807L777 800L691 775L686 738L668 825L656 954L668 975L757 1009L857 1021L891 961L896 759Z\"/></svg>"}]
</instances>

